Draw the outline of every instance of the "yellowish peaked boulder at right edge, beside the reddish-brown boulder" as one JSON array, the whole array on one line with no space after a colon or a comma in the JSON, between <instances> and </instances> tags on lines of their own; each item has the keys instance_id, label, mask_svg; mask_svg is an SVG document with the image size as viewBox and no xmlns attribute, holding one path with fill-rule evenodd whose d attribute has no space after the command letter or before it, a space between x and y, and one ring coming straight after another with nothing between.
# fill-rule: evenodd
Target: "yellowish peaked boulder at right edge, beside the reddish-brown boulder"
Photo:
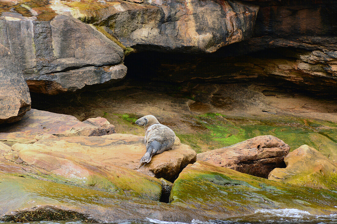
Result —
<instances>
[{"instance_id":1,"label":"yellowish peaked boulder at right edge, beside the reddish-brown boulder","mask_svg":"<svg viewBox=\"0 0 337 224\"><path fill-rule=\"evenodd\" d=\"M337 189L337 164L316 149L302 145L285 156L286 168L276 168L268 179L318 189Z\"/></svg>"}]
</instances>

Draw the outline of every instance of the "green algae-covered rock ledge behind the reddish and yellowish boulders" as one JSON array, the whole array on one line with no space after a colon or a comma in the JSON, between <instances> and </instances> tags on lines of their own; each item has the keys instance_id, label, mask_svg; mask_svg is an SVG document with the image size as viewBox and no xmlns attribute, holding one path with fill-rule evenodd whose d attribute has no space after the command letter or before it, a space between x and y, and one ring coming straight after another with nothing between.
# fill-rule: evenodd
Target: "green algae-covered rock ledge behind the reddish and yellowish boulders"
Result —
<instances>
[{"instance_id":1,"label":"green algae-covered rock ledge behind the reddish and yellowish boulders","mask_svg":"<svg viewBox=\"0 0 337 224\"><path fill-rule=\"evenodd\" d=\"M337 127L334 122L297 117L234 117L220 113L206 113L196 116L185 116L185 121L201 134L177 132L182 143L191 145L197 152L205 148L198 145L209 145L222 148L242 142L259 135L272 135L287 143L290 151L303 144L315 147L332 161L337 161ZM196 144L200 143L200 144ZM207 151L207 150L205 150Z\"/></svg>"}]
</instances>

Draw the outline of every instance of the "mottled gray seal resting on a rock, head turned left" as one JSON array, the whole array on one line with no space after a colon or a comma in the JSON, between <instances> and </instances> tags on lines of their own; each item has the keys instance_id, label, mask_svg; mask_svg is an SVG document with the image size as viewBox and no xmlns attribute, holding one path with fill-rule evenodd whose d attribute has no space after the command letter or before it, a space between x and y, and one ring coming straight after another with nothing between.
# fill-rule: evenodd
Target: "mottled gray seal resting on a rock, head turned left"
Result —
<instances>
[{"instance_id":1,"label":"mottled gray seal resting on a rock, head turned left","mask_svg":"<svg viewBox=\"0 0 337 224\"><path fill-rule=\"evenodd\" d=\"M146 153L141 158L141 163L150 162L153 155L171 149L176 139L174 131L159 123L153 115L146 115L136 120L138 126L145 129Z\"/></svg>"}]
</instances>

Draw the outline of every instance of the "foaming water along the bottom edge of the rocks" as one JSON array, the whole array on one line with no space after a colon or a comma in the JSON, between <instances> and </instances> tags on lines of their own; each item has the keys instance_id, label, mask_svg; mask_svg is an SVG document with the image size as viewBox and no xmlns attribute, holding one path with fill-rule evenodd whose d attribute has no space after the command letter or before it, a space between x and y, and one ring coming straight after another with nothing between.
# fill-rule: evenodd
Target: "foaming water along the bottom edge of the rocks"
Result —
<instances>
[{"instance_id":1,"label":"foaming water along the bottom edge of the rocks","mask_svg":"<svg viewBox=\"0 0 337 224\"><path fill-rule=\"evenodd\" d=\"M1 224L13 224L0 222ZM130 222L123 222L118 224L337 224L337 214L332 215L311 215L306 211L298 209L275 209L275 210L257 210L254 214L243 217L230 218L227 220L209 220L202 222L199 220L192 220L191 223L183 222L165 222L156 219L147 218L143 221L132 220ZM87 224L80 221L41 221L28 222L20 224ZM93 224L93 223L92 223Z\"/></svg>"}]
</instances>

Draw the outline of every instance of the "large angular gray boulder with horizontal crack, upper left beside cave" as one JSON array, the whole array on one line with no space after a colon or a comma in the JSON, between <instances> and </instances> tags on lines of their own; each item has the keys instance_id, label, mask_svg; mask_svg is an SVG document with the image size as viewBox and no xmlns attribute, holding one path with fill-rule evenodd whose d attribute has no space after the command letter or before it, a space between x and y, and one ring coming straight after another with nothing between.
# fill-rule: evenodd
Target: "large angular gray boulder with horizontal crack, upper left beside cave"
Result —
<instances>
[{"instance_id":1,"label":"large angular gray boulder with horizontal crack, upper left beside cave","mask_svg":"<svg viewBox=\"0 0 337 224\"><path fill-rule=\"evenodd\" d=\"M2 14L0 43L21 62L31 91L54 95L125 77L123 49L95 27L66 15L37 21Z\"/></svg>"}]
</instances>

